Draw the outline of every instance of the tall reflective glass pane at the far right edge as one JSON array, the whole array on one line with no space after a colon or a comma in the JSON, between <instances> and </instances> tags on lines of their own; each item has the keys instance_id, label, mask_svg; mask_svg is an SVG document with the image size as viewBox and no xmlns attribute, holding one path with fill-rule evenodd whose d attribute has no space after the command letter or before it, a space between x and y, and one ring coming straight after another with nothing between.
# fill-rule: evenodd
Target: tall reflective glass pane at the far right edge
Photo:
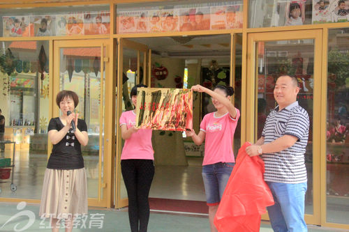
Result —
<instances>
[{"instance_id":1,"label":"tall reflective glass pane at the far right edge","mask_svg":"<svg viewBox=\"0 0 349 232\"><path fill-rule=\"evenodd\" d=\"M327 222L349 218L349 29L329 30L327 63Z\"/></svg>"}]
</instances>

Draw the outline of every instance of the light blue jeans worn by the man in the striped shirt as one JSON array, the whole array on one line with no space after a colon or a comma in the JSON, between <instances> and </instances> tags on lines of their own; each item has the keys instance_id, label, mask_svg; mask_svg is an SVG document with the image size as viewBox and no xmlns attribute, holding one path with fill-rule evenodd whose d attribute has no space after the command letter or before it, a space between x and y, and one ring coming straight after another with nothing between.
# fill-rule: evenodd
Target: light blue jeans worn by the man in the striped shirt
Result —
<instances>
[{"instance_id":1,"label":"light blue jeans worn by the man in the striped shirt","mask_svg":"<svg viewBox=\"0 0 349 232\"><path fill-rule=\"evenodd\" d=\"M275 232L306 232L304 199L306 183L285 184L267 182L274 196L274 206L267 207Z\"/></svg>"}]
</instances>

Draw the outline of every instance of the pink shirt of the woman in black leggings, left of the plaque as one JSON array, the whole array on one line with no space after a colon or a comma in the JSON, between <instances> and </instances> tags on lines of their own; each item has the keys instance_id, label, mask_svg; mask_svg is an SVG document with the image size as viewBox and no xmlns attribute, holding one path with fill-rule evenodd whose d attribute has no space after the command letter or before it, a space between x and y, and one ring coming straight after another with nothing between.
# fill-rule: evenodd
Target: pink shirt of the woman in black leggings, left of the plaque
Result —
<instances>
[{"instance_id":1,"label":"pink shirt of the woman in black leggings, left of the plaque","mask_svg":"<svg viewBox=\"0 0 349 232\"><path fill-rule=\"evenodd\" d=\"M133 110L125 111L120 117L120 127L126 125L127 129L135 125ZM121 160L142 159L154 160L154 150L151 145L151 130L140 129L125 140L121 153Z\"/></svg>"}]
</instances>

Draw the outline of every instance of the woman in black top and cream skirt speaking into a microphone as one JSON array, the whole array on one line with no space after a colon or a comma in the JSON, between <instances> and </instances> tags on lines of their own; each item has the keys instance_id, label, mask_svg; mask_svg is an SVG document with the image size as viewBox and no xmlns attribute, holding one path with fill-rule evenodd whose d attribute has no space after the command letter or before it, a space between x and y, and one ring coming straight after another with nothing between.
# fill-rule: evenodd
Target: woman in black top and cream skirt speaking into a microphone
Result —
<instances>
[{"instance_id":1,"label":"woman in black top and cream skirt speaking into a microphone","mask_svg":"<svg viewBox=\"0 0 349 232\"><path fill-rule=\"evenodd\" d=\"M48 137L53 144L47 163L40 202L40 217L50 217L52 231L59 231L65 219L66 232L73 229L73 218L87 214L87 178L81 146L89 137L86 123L73 112L79 98L73 91L61 91L56 103L61 109L59 118L51 118ZM71 127L74 121L75 132Z\"/></svg>"}]
</instances>

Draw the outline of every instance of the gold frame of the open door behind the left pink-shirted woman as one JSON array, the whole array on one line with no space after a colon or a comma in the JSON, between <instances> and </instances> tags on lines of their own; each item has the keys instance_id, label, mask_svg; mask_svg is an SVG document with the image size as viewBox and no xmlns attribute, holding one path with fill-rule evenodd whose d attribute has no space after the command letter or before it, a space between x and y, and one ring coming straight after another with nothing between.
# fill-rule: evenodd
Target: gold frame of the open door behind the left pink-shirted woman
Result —
<instances>
[{"instance_id":1,"label":"gold frame of the open door behind the left pink-shirted woman","mask_svg":"<svg viewBox=\"0 0 349 232\"><path fill-rule=\"evenodd\" d=\"M121 166L120 166L120 157L121 157L121 130L119 129L120 123L119 123L119 116L121 116L122 113L122 75L123 75L123 60L124 60L124 47L128 49L133 49L138 52L138 58L137 58L137 73L140 73L140 54L143 52L143 82L142 84L150 84L150 72L151 72L151 54L150 50L146 45L143 45L139 42L135 42L132 40L128 40L126 38L119 38L118 39L118 63L117 63L117 93L121 93L117 95L117 107L115 108L115 114L117 114L116 118L116 154L115 154L115 208L121 208L128 206L128 198L121 198ZM147 74L149 75L147 78ZM136 83L140 84L140 77L137 76Z\"/></svg>"}]
</instances>

